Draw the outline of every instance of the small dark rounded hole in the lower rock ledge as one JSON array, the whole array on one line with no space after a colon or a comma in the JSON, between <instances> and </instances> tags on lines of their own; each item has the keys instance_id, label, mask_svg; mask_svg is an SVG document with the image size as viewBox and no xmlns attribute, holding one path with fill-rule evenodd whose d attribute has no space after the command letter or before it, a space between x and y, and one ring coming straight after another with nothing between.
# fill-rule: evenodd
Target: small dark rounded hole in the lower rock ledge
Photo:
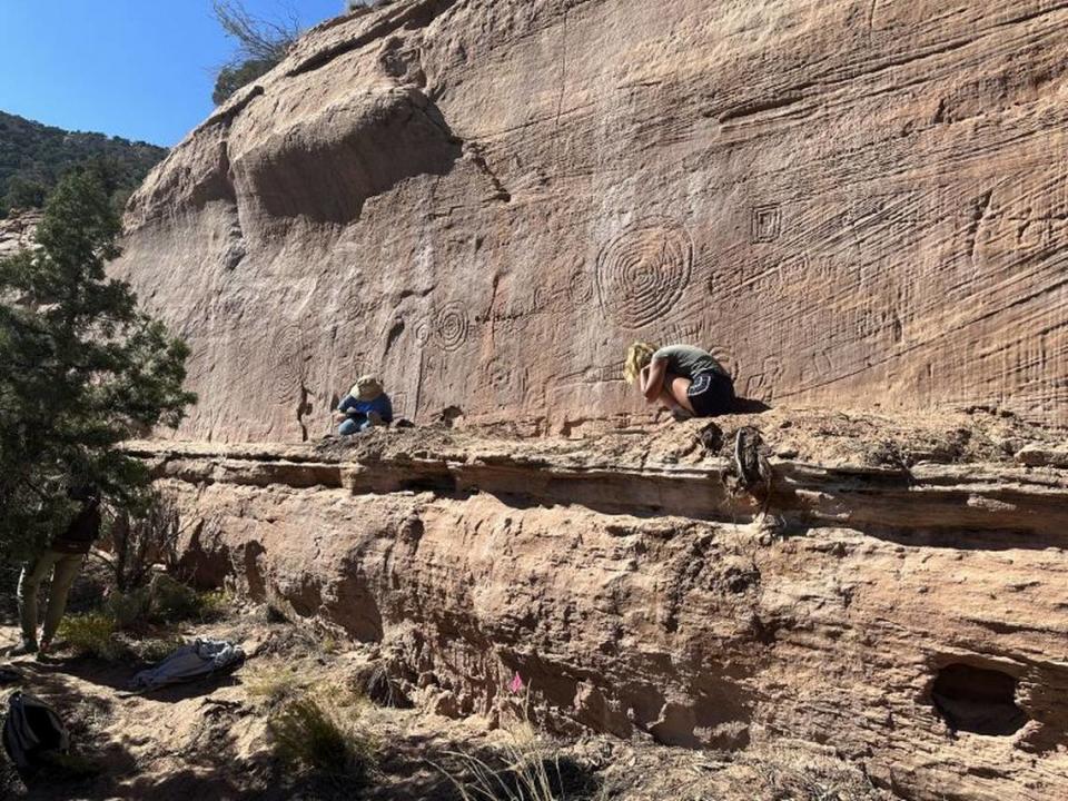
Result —
<instances>
[{"instance_id":1,"label":"small dark rounded hole in the lower rock ledge","mask_svg":"<svg viewBox=\"0 0 1068 801\"><path fill-rule=\"evenodd\" d=\"M1001 671L951 664L934 678L934 709L953 731L1008 735L1029 720L1016 704L1017 680Z\"/></svg>"}]
</instances>

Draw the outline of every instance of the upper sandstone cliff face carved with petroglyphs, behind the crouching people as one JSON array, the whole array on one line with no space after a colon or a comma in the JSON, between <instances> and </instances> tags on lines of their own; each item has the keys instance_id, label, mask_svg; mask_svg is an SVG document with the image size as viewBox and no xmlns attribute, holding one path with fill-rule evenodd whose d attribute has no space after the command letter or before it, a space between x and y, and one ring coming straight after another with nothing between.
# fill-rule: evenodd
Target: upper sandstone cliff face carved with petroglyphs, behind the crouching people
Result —
<instances>
[{"instance_id":1,"label":"upper sandstone cliff face carved with petroglyphs, behind the crouching people","mask_svg":"<svg viewBox=\"0 0 1068 801\"><path fill-rule=\"evenodd\" d=\"M320 26L132 199L194 348L181 436L640 412L627 340L744 395L1068 422L1068 11L1039 0L412 0Z\"/></svg>"}]
</instances>

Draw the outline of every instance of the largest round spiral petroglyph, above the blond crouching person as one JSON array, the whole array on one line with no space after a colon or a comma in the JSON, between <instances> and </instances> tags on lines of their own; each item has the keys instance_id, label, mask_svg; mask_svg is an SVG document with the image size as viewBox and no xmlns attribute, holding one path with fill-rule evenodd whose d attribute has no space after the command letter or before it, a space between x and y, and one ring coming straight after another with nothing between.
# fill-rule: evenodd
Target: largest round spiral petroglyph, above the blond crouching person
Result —
<instances>
[{"instance_id":1,"label":"largest round spiral petroglyph, above the blond crouching person","mask_svg":"<svg viewBox=\"0 0 1068 801\"><path fill-rule=\"evenodd\" d=\"M668 221L631 228L597 258L597 295L607 316L624 328L641 328L671 310L690 283L693 241Z\"/></svg>"}]
</instances>

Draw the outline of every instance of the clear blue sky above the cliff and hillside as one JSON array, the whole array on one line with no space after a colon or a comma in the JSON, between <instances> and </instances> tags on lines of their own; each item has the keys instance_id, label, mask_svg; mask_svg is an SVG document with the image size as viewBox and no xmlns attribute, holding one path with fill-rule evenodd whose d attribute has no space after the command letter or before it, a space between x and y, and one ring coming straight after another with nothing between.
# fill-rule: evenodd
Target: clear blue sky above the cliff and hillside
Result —
<instances>
[{"instance_id":1,"label":"clear blue sky above the cliff and hillside","mask_svg":"<svg viewBox=\"0 0 1068 801\"><path fill-rule=\"evenodd\" d=\"M304 27L343 0L246 0ZM0 110L70 130L176 145L210 113L235 44L210 0L0 0Z\"/></svg>"}]
</instances>

